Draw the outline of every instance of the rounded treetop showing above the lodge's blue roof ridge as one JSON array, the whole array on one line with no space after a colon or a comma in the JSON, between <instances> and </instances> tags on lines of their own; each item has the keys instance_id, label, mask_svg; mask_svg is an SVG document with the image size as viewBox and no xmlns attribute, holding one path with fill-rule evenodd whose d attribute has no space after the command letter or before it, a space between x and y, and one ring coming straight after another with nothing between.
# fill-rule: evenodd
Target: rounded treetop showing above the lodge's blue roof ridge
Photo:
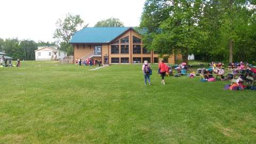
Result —
<instances>
[{"instance_id":1,"label":"rounded treetop showing above the lodge's blue roof ridge","mask_svg":"<svg viewBox=\"0 0 256 144\"><path fill-rule=\"evenodd\" d=\"M124 23L117 18L109 18L97 22L94 27L124 27Z\"/></svg>"}]
</instances>

